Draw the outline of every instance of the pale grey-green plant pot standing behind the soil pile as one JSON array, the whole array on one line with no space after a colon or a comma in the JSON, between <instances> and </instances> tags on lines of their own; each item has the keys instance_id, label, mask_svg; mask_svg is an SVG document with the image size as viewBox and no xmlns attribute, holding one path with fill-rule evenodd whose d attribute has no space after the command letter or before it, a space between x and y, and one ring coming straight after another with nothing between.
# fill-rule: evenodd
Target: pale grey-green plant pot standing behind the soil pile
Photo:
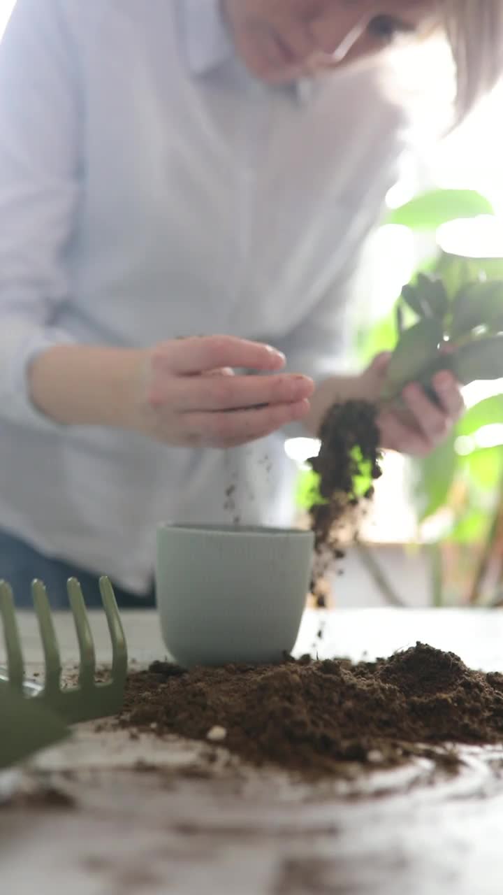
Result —
<instances>
[{"instance_id":1,"label":"pale grey-green plant pot standing behind the soil pile","mask_svg":"<svg viewBox=\"0 0 503 895\"><path fill-rule=\"evenodd\" d=\"M159 526L158 609L175 661L260 664L291 652L313 546L296 529Z\"/></svg>"}]
</instances>

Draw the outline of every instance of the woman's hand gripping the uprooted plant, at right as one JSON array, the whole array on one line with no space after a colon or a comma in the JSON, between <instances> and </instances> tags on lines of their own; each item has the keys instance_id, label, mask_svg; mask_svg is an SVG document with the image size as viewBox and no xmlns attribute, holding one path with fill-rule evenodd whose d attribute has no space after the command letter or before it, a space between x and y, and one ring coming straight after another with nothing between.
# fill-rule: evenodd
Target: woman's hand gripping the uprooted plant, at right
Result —
<instances>
[{"instance_id":1,"label":"woman's hand gripping the uprooted plant, at right","mask_svg":"<svg viewBox=\"0 0 503 895\"><path fill-rule=\"evenodd\" d=\"M390 356L379 354L362 373L362 392L369 400L379 398ZM449 371L437 373L431 385L438 396L438 404L414 383L402 393L405 413L400 410L379 413L382 447L402 454L427 456L448 437L465 411L461 389Z\"/></svg>"}]
</instances>

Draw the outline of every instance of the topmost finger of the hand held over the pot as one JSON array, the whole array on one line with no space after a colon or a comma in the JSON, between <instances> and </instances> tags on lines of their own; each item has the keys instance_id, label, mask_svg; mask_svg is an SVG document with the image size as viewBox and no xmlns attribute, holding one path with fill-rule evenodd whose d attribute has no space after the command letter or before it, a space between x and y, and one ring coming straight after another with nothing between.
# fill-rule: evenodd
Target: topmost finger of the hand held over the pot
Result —
<instances>
[{"instance_id":1,"label":"topmost finger of the hand held over the pot","mask_svg":"<svg viewBox=\"0 0 503 895\"><path fill-rule=\"evenodd\" d=\"M173 339L159 345L152 356L155 371L191 376L221 367L277 371L285 365L285 355L260 342L234 336Z\"/></svg>"}]
</instances>

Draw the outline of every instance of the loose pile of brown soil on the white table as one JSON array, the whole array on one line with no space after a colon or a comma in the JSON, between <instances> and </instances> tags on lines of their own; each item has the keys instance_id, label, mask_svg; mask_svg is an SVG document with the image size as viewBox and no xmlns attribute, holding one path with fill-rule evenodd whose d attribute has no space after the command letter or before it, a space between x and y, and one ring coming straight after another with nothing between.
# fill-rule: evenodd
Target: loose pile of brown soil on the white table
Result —
<instances>
[{"instance_id":1,"label":"loose pile of brown soil on the white table","mask_svg":"<svg viewBox=\"0 0 503 895\"><path fill-rule=\"evenodd\" d=\"M214 742L254 765L340 774L348 762L403 763L427 744L503 742L503 675L423 644L358 664L288 657L187 672L155 662L128 679L120 724Z\"/></svg>"}]
</instances>

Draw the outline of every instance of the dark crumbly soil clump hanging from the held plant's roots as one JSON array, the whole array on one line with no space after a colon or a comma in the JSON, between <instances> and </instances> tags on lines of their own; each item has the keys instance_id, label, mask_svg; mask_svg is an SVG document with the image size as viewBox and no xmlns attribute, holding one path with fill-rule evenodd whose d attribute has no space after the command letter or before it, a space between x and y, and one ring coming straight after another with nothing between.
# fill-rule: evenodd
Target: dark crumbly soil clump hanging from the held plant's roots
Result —
<instances>
[{"instance_id":1,"label":"dark crumbly soil clump hanging from the held plant's roots","mask_svg":"<svg viewBox=\"0 0 503 895\"><path fill-rule=\"evenodd\" d=\"M320 429L320 455L310 464L320 476L323 503L311 507L311 528L316 549L328 549L341 558L339 533L354 510L371 499L372 487L361 495L358 478L368 471L371 481L381 475L376 407L365 401L334 405Z\"/></svg>"}]
</instances>

